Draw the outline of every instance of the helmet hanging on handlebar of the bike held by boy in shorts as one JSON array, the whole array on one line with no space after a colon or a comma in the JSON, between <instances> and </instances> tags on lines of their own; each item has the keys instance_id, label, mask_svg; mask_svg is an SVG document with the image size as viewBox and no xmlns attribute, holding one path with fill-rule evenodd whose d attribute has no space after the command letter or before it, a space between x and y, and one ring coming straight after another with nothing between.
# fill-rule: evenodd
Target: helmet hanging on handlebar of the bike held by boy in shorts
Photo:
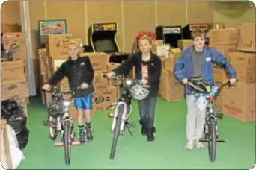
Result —
<instances>
[{"instance_id":1,"label":"helmet hanging on handlebar of the bike held by boy in shorts","mask_svg":"<svg viewBox=\"0 0 256 170\"><path fill-rule=\"evenodd\" d=\"M57 118L64 113L64 106L61 101L52 101L49 103L48 115Z\"/></svg>"}]
</instances>

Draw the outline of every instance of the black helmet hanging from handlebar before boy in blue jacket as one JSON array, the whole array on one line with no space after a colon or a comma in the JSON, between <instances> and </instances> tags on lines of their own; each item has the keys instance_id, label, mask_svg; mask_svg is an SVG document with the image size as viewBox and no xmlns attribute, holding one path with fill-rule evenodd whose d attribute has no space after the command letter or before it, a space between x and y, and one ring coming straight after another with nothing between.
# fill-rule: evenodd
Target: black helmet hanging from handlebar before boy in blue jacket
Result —
<instances>
[{"instance_id":1,"label":"black helmet hanging from handlebar before boy in blue jacket","mask_svg":"<svg viewBox=\"0 0 256 170\"><path fill-rule=\"evenodd\" d=\"M187 85L189 86L189 89L192 90L192 92L204 94L209 94L211 92L210 84L204 78L201 77L188 78Z\"/></svg>"}]
</instances>

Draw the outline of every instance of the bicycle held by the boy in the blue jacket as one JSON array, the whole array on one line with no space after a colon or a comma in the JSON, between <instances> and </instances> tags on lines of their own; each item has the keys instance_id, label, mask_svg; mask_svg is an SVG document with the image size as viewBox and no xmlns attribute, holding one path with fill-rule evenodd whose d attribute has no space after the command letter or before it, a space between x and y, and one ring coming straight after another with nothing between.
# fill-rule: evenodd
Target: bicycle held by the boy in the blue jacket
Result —
<instances>
[{"instance_id":1,"label":"bicycle held by the boy in the blue jacket","mask_svg":"<svg viewBox=\"0 0 256 170\"><path fill-rule=\"evenodd\" d=\"M210 86L210 84L209 84ZM219 139L218 132L218 120L223 119L222 113L216 113L214 109L214 101L218 97L219 93L222 91L224 86L232 86L230 81L222 84L221 86L212 86L212 90L209 90L204 96L207 99L206 107L206 123L204 125L204 138L199 139L199 142L208 142L208 154L211 162L216 160L216 143L225 142L225 139ZM213 92L215 87L215 91ZM213 94L212 94L213 93Z\"/></svg>"}]
</instances>

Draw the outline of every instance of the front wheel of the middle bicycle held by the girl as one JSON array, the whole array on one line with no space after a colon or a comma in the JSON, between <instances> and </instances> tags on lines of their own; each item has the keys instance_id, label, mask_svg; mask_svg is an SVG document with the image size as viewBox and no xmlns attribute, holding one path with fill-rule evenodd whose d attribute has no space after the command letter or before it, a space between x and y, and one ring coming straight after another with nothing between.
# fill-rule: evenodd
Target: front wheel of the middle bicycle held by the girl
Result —
<instances>
[{"instance_id":1,"label":"front wheel of the middle bicycle held by the girl","mask_svg":"<svg viewBox=\"0 0 256 170\"><path fill-rule=\"evenodd\" d=\"M118 137L120 134L120 126L121 126L123 110L124 110L124 105L123 104L119 105L118 118L115 123L115 130L114 130L114 136L113 136L112 147L111 147L111 152L110 152L110 159L114 159L114 157L115 157L115 150L118 145Z\"/></svg>"}]
</instances>

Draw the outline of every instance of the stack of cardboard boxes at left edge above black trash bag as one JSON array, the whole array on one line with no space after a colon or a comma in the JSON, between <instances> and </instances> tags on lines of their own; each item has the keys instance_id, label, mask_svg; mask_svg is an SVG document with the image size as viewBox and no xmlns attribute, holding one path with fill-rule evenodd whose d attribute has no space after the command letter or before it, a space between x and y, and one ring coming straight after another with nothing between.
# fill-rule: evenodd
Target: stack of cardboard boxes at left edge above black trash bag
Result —
<instances>
[{"instance_id":1,"label":"stack of cardboard boxes at left edge above black trash bag","mask_svg":"<svg viewBox=\"0 0 256 170\"><path fill-rule=\"evenodd\" d=\"M1 62L1 101L16 99L28 116L28 85L26 80L27 52L25 36L22 33L4 33L3 45L9 50L16 44L13 51L13 61ZM14 48L13 48L14 49Z\"/></svg>"}]
</instances>

